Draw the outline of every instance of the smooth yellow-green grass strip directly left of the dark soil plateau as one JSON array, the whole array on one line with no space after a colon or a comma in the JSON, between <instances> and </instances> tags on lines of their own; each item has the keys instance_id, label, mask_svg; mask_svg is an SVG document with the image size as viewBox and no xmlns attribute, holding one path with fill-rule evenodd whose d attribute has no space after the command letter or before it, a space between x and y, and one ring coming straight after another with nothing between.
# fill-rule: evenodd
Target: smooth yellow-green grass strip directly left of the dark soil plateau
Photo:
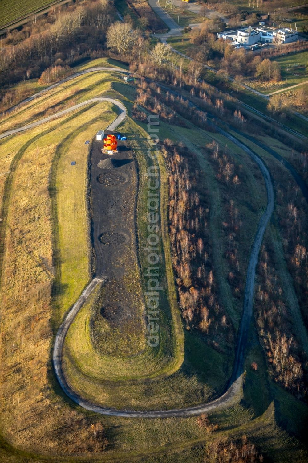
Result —
<instances>
[{"instance_id":1,"label":"smooth yellow-green grass strip directly left of the dark soil plateau","mask_svg":"<svg viewBox=\"0 0 308 463\"><path fill-rule=\"evenodd\" d=\"M85 122L62 131L51 170L53 222L55 224L55 291L58 321L78 299L89 281L90 231L87 212L88 146L100 126L108 126L116 113L111 103L84 111ZM76 165L71 166L71 161ZM56 226L56 223L58 226Z\"/></svg>"}]
</instances>

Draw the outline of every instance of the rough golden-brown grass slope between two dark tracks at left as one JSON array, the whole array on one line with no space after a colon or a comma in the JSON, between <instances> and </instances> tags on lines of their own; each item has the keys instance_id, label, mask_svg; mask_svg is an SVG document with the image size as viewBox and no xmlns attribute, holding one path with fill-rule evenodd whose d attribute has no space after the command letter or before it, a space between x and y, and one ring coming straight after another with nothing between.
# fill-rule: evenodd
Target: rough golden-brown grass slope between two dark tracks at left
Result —
<instances>
[{"instance_id":1,"label":"rough golden-brown grass slope between two dark tracks at left","mask_svg":"<svg viewBox=\"0 0 308 463\"><path fill-rule=\"evenodd\" d=\"M50 138L31 145L12 185L1 288L1 432L14 445L41 453L87 453L105 448L105 431L98 419L85 418L55 394L50 364L54 269L48 179L55 149Z\"/></svg>"}]
</instances>

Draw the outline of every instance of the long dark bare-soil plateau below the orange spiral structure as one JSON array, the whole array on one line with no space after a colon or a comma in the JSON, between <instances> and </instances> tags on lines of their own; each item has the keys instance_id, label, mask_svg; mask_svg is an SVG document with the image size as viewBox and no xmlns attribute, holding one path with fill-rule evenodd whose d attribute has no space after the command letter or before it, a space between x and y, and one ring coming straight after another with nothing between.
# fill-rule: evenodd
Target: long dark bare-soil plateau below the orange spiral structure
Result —
<instances>
[{"instance_id":1,"label":"long dark bare-soil plateau below the orange spiral structure","mask_svg":"<svg viewBox=\"0 0 308 463\"><path fill-rule=\"evenodd\" d=\"M121 350L134 355L143 348L136 332L144 326L136 257L136 163L127 141L119 141L112 156L101 148L102 142L94 142L90 158L93 271L107 281L93 307L91 339L104 354Z\"/></svg>"}]
</instances>

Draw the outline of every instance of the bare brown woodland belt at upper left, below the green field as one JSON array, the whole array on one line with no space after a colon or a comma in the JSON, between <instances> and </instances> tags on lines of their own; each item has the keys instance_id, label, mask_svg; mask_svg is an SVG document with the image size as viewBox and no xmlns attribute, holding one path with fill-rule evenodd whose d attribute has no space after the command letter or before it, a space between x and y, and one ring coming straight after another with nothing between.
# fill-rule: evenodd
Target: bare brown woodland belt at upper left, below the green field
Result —
<instances>
[{"instance_id":1,"label":"bare brown woodland belt at upper left, below the green field","mask_svg":"<svg viewBox=\"0 0 308 463\"><path fill-rule=\"evenodd\" d=\"M10 32L1 41L2 87L8 82L40 77L50 65L65 68L78 57L104 47L112 14L107 0L64 6L60 11L51 10L48 16L28 23L21 31ZM12 96L6 94L1 104L3 108L10 106Z\"/></svg>"}]
</instances>

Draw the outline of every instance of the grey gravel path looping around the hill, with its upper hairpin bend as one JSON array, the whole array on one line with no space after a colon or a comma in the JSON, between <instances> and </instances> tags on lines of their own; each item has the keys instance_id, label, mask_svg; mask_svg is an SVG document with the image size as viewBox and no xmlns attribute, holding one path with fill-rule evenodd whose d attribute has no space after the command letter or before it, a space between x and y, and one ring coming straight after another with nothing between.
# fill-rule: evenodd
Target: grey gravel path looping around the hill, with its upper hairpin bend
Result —
<instances>
[{"instance_id":1,"label":"grey gravel path looping around the hill, with its upper hairpin bend","mask_svg":"<svg viewBox=\"0 0 308 463\"><path fill-rule=\"evenodd\" d=\"M70 76L70 78L73 78L73 76ZM47 89L45 89L45 91L46 90ZM115 104L120 109L121 112L118 115L117 119L108 127L108 130L114 130L117 127L117 125L119 125L123 121L123 119L125 119L126 114L127 114L126 108L123 105L123 103L117 100L113 100L111 98L100 97L100 98L93 98L91 100L84 101L83 103L80 103L79 105L72 106L64 111L61 111L60 113L56 113L53 116L49 116L48 118L41 119L40 121L29 124L25 127L20 127L19 129L14 129L12 131L5 132L0 136L0 138L5 138L14 133L25 131L28 128L42 124L43 122L59 117L62 114L66 114L71 111L74 111L76 108L80 106L84 106L86 104L89 104L91 102L96 102L96 101L109 101ZM264 179L265 179L265 185L267 189L267 199L268 199L265 213L262 215L259 221L258 231L254 238L253 248L252 248L252 252L251 252L251 256L250 256L250 260L248 264L246 289L245 289L245 295L244 295L243 315L242 315L242 319L240 323L240 330L239 330L239 335L238 335L234 369L233 369L233 374L232 374L231 381L230 381L230 386L228 387L228 390L216 400L212 400L211 402L208 402L203 405L198 405L195 407L187 407L187 408L173 409L173 410L154 410L154 411L117 410L113 408L100 407L95 404L92 404L91 402L87 400L82 399L78 394L76 394L73 391L72 388L70 388L63 374L62 350L63 350L63 344L64 344L66 334L68 332L69 326L71 325L76 314L80 310L80 307L82 307L82 305L87 300L89 295L92 293L94 288L96 288L96 286L100 282L103 281L103 277L102 278L97 277L97 278L92 279L92 281L88 284L86 289L81 294L80 298L76 301L74 306L68 312L68 315L64 319L56 335L54 350L53 350L53 364L54 364L54 369L55 369L55 375L56 375L56 378L62 390L65 392L65 394L68 395L68 397L71 400L73 400L75 403L77 403L81 407L86 408L87 410L91 410L92 412L101 413L105 415L123 416L123 417L143 417L143 418L147 418L147 417L148 418L185 417L185 416L191 416L191 415L198 415L204 412L209 412L211 410L216 409L217 407L228 407L233 401L234 397L237 395L237 393L241 389L242 380L241 380L240 375L243 372L243 362L244 362L246 340L247 340L248 329L249 329L251 316L253 312L253 289L254 289L255 268L258 262L259 249L260 249L262 238L263 238L263 235L266 229L266 225L269 219L271 218L271 213L273 211L274 194L273 194L273 187L271 184L270 174L267 168L265 167L265 164L261 161L261 159L259 159L259 157L256 156L256 154L252 150L250 150L246 145L240 143L236 138L232 137L231 135L229 135L227 132L223 131L222 129L219 129L219 130L221 131L223 135L228 137L233 143L237 144L241 149L244 149L246 153L249 156L251 156L252 159L256 163L258 163L261 169L262 175L264 176Z\"/></svg>"}]
</instances>

